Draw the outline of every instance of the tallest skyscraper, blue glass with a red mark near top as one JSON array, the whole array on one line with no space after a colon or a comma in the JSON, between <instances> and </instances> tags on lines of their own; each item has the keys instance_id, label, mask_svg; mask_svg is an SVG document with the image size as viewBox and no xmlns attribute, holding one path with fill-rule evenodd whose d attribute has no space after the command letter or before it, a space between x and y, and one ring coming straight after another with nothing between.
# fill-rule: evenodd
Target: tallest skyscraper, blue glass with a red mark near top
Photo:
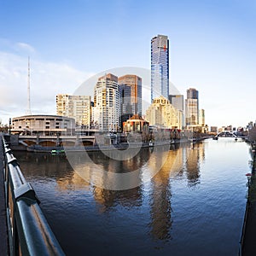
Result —
<instances>
[{"instance_id":1,"label":"tallest skyscraper, blue glass with a red mark near top","mask_svg":"<svg viewBox=\"0 0 256 256\"><path fill-rule=\"evenodd\" d=\"M158 35L151 39L151 102L169 96L169 40Z\"/></svg>"}]
</instances>

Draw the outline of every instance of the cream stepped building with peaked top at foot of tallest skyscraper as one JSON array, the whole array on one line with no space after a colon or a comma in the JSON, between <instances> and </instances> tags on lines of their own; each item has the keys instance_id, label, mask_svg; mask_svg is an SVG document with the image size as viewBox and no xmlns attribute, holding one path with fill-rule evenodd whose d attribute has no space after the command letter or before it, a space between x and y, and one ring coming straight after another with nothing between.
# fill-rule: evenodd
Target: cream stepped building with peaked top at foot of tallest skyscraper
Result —
<instances>
[{"instance_id":1,"label":"cream stepped building with peaked top at foot of tallest skyscraper","mask_svg":"<svg viewBox=\"0 0 256 256\"><path fill-rule=\"evenodd\" d=\"M182 119L182 111L174 108L164 96L155 98L146 111L149 124L160 128L182 129Z\"/></svg>"}]
</instances>

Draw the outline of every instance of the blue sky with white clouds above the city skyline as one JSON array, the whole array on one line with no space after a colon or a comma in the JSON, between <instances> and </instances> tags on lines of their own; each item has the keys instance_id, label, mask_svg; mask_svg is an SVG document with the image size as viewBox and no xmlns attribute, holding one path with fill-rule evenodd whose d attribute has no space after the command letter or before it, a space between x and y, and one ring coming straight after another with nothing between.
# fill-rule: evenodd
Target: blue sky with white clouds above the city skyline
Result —
<instances>
[{"instance_id":1,"label":"blue sky with white clouds above the city skyline","mask_svg":"<svg viewBox=\"0 0 256 256\"><path fill-rule=\"evenodd\" d=\"M199 91L206 124L246 126L256 119L255 24L254 0L0 0L0 119L26 114L28 56L32 113L55 114L57 94L86 84L88 95L99 73L150 70L151 38L164 34L170 80L184 98Z\"/></svg>"}]
</instances>

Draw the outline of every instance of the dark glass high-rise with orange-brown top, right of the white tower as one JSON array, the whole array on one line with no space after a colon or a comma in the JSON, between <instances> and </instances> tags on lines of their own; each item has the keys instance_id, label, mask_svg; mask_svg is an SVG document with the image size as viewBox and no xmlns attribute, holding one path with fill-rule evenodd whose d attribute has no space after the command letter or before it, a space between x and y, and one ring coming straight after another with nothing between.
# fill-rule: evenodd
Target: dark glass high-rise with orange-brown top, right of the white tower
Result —
<instances>
[{"instance_id":1,"label":"dark glass high-rise with orange-brown top, right of the white tower","mask_svg":"<svg viewBox=\"0 0 256 256\"><path fill-rule=\"evenodd\" d=\"M119 77L119 101L121 124L131 116L142 116L142 79L137 75L127 74Z\"/></svg>"}]
</instances>

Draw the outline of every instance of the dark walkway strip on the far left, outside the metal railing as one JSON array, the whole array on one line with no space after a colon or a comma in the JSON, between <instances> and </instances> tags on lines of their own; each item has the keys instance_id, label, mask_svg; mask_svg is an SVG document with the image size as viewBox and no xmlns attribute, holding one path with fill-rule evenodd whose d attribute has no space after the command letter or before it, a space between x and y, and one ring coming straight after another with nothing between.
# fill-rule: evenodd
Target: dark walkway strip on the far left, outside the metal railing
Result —
<instances>
[{"instance_id":1,"label":"dark walkway strip on the far left, outside the metal railing","mask_svg":"<svg viewBox=\"0 0 256 256\"><path fill-rule=\"evenodd\" d=\"M9 255L3 181L3 143L0 134L0 255Z\"/></svg>"}]
</instances>

